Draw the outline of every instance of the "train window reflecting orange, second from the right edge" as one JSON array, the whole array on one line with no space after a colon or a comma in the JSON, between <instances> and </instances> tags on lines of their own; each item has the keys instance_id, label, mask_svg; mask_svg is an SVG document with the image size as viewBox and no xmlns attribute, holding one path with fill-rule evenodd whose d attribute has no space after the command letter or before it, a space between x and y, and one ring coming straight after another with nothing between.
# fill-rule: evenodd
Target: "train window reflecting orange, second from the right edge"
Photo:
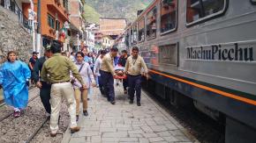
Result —
<instances>
[{"instance_id":1,"label":"train window reflecting orange, second from the right edge","mask_svg":"<svg viewBox=\"0 0 256 143\"><path fill-rule=\"evenodd\" d=\"M177 27L177 0L163 0L161 3L161 32L170 32Z\"/></svg>"}]
</instances>

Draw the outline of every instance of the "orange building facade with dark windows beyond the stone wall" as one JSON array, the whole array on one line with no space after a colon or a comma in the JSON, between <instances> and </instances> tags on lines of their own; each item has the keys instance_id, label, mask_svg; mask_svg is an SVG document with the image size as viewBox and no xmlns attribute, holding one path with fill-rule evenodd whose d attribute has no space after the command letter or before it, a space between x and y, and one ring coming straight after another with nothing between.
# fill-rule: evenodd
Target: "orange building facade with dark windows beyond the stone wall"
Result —
<instances>
[{"instance_id":1,"label":"orange building facade with dark windows beyond the stone wall","mask_svg":"<svg viewBox=\"0 0 256 143\"><path fill-rule=\"evenodd\" d=\"M34 0L34 11L37 13L38 0ZM67 0L41 0L41 42L42 46L54 41L64 45L65 35L62 32L64 23L69 21ZM30 4L22 5L28 17Z\"/></svg>"}]
</instances>

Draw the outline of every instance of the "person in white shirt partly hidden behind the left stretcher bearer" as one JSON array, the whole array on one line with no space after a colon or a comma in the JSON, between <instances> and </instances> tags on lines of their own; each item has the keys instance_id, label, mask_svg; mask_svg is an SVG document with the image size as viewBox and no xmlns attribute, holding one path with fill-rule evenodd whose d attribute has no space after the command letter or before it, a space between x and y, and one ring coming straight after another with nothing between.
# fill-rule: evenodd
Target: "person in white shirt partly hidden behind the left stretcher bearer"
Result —
<instances>
[{"instance_id":1,"label":"person in white shirt partly hidden behind the left stretcher bearer","mask_svg":"<svg viewBox=\"0 0 256 143\"><path fill-rule=\"evenodd\" d=\"M101 74L100 74L100 68L101 68L101 65L102 65L102 59L103 59L105 54L106 54L106 51L101 50L100 56L97 58L97 60L95 61L95 64L94 64L95 79L96 79L96 82L98 81L97 86L99 86L99 89L100 89L102 95L104 95L104 91L103 91L102 78L101 78Z\"/></svg>"}]
</instances>

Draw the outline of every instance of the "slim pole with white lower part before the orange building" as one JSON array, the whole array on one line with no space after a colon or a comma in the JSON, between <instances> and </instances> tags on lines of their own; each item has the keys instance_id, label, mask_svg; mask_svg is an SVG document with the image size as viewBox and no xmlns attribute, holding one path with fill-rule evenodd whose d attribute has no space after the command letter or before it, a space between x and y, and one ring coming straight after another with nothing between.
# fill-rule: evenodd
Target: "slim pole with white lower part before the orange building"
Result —
<instances>
[{"instance_id":1,"label":"slim pole with white lower part before the orange building","mask_svg":"<svg viewBox=\"0 0 256 143\"><path fill-rule=\"evenodd\" d=\"M36 51L41 57L41 0L37 1L37 22Z\"/></svg>"}]
</instances>

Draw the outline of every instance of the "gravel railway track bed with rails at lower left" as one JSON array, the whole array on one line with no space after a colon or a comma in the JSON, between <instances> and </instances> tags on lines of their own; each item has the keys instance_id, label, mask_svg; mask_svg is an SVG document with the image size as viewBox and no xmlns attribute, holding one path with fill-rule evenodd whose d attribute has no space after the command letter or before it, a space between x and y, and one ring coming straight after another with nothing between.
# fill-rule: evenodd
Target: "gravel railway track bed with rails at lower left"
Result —
<instances>
[{"instance_id":1,"label":"gravel railway track bed with rails at lower left","mask_svg":"<svg viewBox=\"0 0 256 143\"><path fill-rule=\"evenodd\" d=\"M69 125L67 107L62 105L59 132L56 138L49 136L49 118L39 98L39 89L29 90L29 101L25 113L19 118L13 118L11 108L4 104L0 106L0 142L61 142L63 134Z\"/></svg>"}]
</instances>

